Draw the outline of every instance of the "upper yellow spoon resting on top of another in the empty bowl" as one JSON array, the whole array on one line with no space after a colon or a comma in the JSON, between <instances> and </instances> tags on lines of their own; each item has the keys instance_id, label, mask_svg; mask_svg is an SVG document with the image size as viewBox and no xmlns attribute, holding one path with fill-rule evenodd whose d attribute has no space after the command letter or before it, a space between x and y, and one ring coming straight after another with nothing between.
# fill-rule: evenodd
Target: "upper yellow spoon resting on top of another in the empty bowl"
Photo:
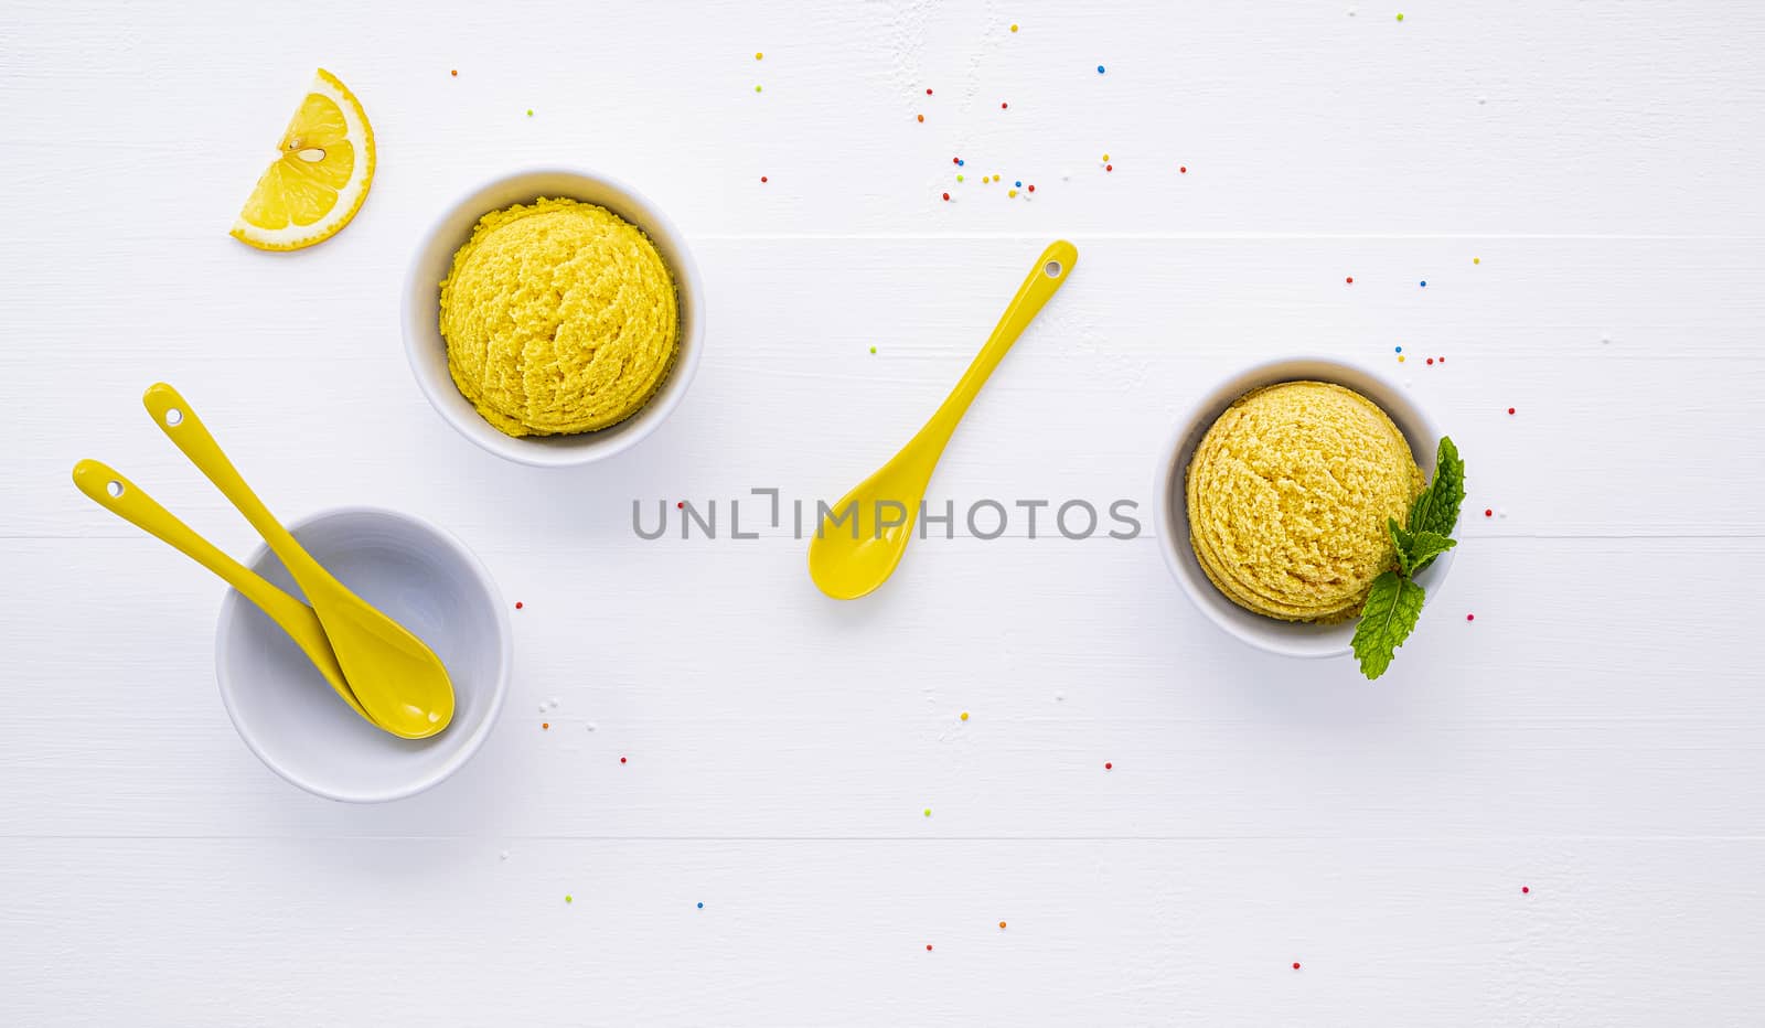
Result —
<instances>
[{"instance_id":1,"label":"upper yellow spoon resting on top of another in the empty bowl","mask_svg":"<svg viewBox=\"0 0 1765 1028\"><path fill-rule=\"evenodd\" d=\"M330 639L349 691L376 724L404 738L427 738L454 719L454 684L441 659L402 625L349 592L302 549L270 509L258 500L233 461L178 390L164 382L141 397L146 412L196 468L238 507L263 535L288 574L307 593Z\"/></svg>"}]
</instances>

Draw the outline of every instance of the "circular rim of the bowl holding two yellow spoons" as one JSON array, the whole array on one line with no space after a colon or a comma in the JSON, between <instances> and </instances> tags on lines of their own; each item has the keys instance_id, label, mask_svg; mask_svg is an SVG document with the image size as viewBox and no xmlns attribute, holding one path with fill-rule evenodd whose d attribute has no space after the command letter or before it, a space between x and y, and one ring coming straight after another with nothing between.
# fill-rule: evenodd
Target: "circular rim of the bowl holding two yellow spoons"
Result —
<instances>
[{"instance_id":1,"label":"circular rim of the bowl holding two yellow spoons","mask_svg":"<svg viewBox=\"0 0 1765 1028\"><path fill-rule=\"evenodd\" d=\"M263 751L256 735L245 728L240 719L238 707L235 705L235 684L229 680L226 666L228 655L231 652L231 641L228 638L228 625L235 620L240 604L251 604L238 590L228 586L226 595L221 599L221 613L215 618L215 684L221 689L221 705L226 707L228 719L233 722L233 731L238 733L240 740L245 744L252 754L272 772L275 772L282 781L298 786L316 797L327 800L337 800L344 804L383 804L390 800L402 800L406 797L415 797L418 793L429 791L452 777L459 768L484 747L484 742L496 729L496 722L503 712L503 699L508 696L508 682L514 677L515 646L514 632L510 631L508 609L503 606L501 590L496 588L496 579L491 578L489 569L478 560L464 542L459 540L452 532L441 528L427 518L417 514L406 514L402 510L392 510L388 507L374 505L344 505L344 507L325 507L312 514L305 514L293 521L288 521L288 532L297 539L300 532L311 528L321 521L330 521L335 518L388 518L408 528L417 528L418 532L429 533L434 540L445 546L454 556L461 560L466 571L471 572L473 581L484 590L485 597L491 601L491 609L496 611L496 641L498 641L498 666L496 666L496 684L491 687L489 710L485 710L484 721L477 729L466 738L464 744L448 756L443 765L427 775L409 782L406 786L394 786L387 790L334 790L325 788L318 782L302 779L289 768L272 760L268 752ZM256 571L258 563L270 555L268 542L258 542L258 546L242 562L247 569Z\"/></svg>"}]
</instances>

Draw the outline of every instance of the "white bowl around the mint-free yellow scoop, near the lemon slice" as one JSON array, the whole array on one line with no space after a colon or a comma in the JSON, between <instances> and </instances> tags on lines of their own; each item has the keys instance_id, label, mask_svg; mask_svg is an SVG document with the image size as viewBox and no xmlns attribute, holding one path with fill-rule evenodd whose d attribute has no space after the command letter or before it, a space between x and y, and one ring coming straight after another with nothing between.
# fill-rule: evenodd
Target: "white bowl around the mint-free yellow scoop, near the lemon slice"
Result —
<instances>
[{"instance_id":1,"label":"white bowl around the mint-free yellow scoop, near the lemon slice","mask_svg":"<svg viewBox=\"0 0 1765 1028\"><path fill-rule=\"evenodd\" d=\"M533 203L540 196L598 203L650 237L674 276L680 297L680 351L662 389L642 410L620 424L568 436L514 438L491 427L491 422L459 394L454 376L448 374L447 343L441 339L439 323L441 279L448 276L454 253L471 238L480 217L512 203ZM699 281L699 265L694 263L687 240L674 223L635 189L602 175L563 170L517 171L473 189L443 210L434 228L417 244L417 254L404 279L404 351L411 360L411 373L417 374L417 385L459 435L522 465L586 465L637 445L687 396L702 348L704 284Z\"/></svg>"}]
</instances>

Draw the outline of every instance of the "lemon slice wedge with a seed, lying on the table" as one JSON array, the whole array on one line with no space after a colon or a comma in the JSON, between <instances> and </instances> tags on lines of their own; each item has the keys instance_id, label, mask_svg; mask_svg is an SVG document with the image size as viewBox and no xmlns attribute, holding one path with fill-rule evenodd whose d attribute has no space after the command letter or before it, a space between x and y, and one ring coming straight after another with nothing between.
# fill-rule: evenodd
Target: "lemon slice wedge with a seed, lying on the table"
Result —
<instances>
[{"instance_id":1,"label":"lemon slice wedge with a seed, lying on the table","mask_svg":"<svg viewBox=\"0 0 1765 1028\"><path fill-rule=\"evenodd\" d=\"M281 155L233 221L258 249L302 249L349 224L374 182L374 129L337 76L318 69L282 132Z\"/></svg>"}]
</instances>

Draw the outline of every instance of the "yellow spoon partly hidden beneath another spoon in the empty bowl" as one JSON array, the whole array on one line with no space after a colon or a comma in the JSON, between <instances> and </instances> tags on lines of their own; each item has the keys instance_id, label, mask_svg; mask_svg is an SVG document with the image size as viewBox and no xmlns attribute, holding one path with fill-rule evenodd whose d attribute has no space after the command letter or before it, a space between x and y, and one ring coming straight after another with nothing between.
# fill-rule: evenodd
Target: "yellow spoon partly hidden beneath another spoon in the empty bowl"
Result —
<instances>
[{"instance_id":1,"label":"yellow spoon partly hidden beneath another spoon in the empty bowl","mask_svg":"<svg viewBox=\"0 0 1765 1028\"><path fill-rule=\"evenodd\" d=\"M152 496L113 472L108 465L79 461L74 465L74 486L86 496L92 496L99 507L104 507L136 528L157 535L184 556L219 574L221 581L238 590L242 597L258 604L258 609L270 615L270 620L295 639L300 652L312 661L319 675L325 675L325 680L337 691L337 696L342 696L349 710L355 710L364 721L378 728L378 722L362 710L362 703L349 691L349 684L342 677L342 668L337 666L337 655L332 654L330 639L325 638L325 629L319 627L319 618L312 613L312 608L275 588L258 572L222 553L214 542L208 542L194 528L178 521L169 510L155 503Z\"/></svg>"}]
</instances>

